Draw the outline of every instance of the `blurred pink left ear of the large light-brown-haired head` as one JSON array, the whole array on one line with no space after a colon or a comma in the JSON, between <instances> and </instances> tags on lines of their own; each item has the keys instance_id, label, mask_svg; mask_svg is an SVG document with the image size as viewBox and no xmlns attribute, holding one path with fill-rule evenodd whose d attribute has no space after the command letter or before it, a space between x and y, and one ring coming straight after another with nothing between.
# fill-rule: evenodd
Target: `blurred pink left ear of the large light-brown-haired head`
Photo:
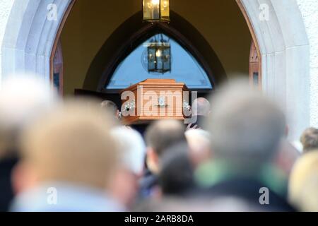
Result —
<instances>
[{"instance_id":1,"label":"blurred pink left ear of the large light-brown-haired head","mask_svg":"<svg viewBox=\"0 0 318 226\"><path fill-rule=\"evenodd\" d=\"M11 173L11 184L14 194L32 189L37 184L37 176L32 167L19 162Z\"/></svg>"}]
</instances>

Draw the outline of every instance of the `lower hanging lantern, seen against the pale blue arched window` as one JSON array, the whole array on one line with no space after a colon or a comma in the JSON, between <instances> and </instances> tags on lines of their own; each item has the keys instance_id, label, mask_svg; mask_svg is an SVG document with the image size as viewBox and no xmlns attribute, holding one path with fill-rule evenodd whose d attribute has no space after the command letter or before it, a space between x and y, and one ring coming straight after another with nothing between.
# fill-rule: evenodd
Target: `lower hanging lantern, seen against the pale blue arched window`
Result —
<instances>
[{"instance_id":1,"label":"lower hanging lantern, seen against the pale blue arched window","mask_svg":"<svg viewBox=\"0 0 318 226\"><path fill-rule=\"evenodd\" d=\"M166 73L171 71L171 47L168 40L152 40L148 46L148 73Z\"/></svg>"}]
</instances>

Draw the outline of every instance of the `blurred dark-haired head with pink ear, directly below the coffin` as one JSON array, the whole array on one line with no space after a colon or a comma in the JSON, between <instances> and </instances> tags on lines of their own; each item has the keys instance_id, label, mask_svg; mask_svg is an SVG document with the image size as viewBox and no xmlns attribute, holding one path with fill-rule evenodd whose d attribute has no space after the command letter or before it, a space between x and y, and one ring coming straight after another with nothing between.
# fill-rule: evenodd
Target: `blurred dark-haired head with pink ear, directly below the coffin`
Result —
<instances>
[{"instance_id":1,"label":"blurred dark-haired head with pink ear, directly below the coffin","mask_svg":"<svg viewBox=\"0 0 318 226\"><path fill-rule=\"evenodd\" d=\"M160 172L160 159L171 145L186 141L181 121L155 121L146 131L147 165L151 172Z\"/></svg>"}]
</instances>

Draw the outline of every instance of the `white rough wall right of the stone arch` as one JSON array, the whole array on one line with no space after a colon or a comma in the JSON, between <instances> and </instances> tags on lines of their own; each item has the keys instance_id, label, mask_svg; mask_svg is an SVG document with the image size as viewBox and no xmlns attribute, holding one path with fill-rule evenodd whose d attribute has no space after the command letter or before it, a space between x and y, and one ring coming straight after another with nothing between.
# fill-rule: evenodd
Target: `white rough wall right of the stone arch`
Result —
<instances>
[{"instance_id":1,"label":"white rough wall right of the stone arch","mask_svg":"<svg viewBox=\"0 0 318 226\"><path fill-rule=\"evenodd\" d=\"M310 124L318 127L318 0L297 0L310 42Z\"/></svg>"}]
</instances>

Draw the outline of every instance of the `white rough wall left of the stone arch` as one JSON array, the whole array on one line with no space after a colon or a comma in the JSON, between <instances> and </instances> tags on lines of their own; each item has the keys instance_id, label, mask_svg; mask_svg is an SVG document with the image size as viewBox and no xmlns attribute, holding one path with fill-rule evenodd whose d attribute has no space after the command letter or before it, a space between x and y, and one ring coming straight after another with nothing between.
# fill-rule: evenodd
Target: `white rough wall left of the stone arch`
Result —
<instances>
[{"instance_id":1,"label":"white rough wall left of the stone arch","mask_svg":"<svg viewBox=\"0 0 318 226\"><path fill-rule=\"evenodd\" d=\"M0 85L1 85L1 47L6 31L6 23L11 12L14 0L0 0Z\"/></svg>"}]
</instances>

